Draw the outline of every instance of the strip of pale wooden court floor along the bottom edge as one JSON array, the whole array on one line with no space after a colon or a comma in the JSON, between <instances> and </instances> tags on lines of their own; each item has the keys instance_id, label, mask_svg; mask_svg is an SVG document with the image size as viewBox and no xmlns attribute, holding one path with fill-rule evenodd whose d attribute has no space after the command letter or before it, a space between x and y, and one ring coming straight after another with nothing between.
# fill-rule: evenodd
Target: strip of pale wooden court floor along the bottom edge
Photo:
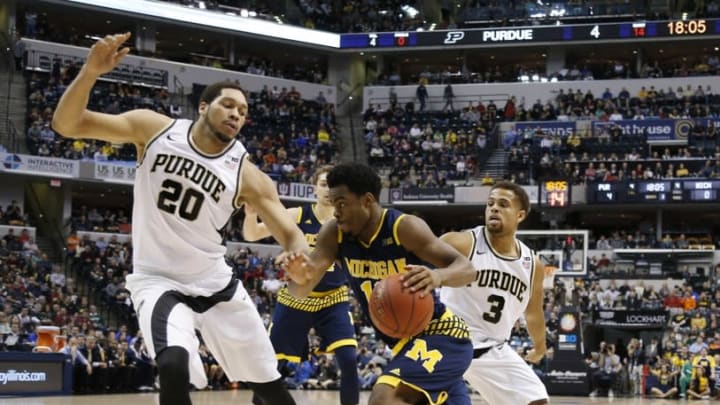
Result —
<instances>
[{"instance_id":1,"label":"strip of pale wooden court floor along the bottom edge","mask_svg":"<svg viewBox=\"0 0 720 405\"><path fill-rule=\"evenodd\" d=\"M337 391L292 391L297 405L339 405ZM360 403L366 404L368 392L360 394ZM250 392L238 391L202 391L192 394L193 405L250 405ZM157 394L118 394L118 395L85 395L67 397L25 397L0 398L0 405L144 405L156 404ZM685 400L658 400L647 398L581 398L581 397L553 397L551 403L556 405L671 405L687 404ZM717 404L719 401L702 400L692 401L692 404ZM473 405L482 405L485 402L479 397L473 397ZM507 404L521 405L521 404Z\"/></svg>"}]
</instances>

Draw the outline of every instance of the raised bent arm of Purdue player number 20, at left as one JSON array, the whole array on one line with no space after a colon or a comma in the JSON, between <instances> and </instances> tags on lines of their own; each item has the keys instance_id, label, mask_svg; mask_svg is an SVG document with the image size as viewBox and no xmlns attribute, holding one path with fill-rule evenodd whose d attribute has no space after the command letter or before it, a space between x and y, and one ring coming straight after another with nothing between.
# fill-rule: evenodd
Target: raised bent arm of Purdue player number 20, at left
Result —
<instances>
[{"instance_id":1,"label":"raised bent arm of Purdue player number 20, at left","mask_svg":"<svg viewBox=\"0 0 720 405\"><path fill-rule=\"evenodd\" d=\"M130 48L121 48L129 38L130 33L107 35L90 48L85 65L55 108L52 127L62 136L134 143L142 148L147 139L172 122L171 118L150 110L113 115L87 109L90 90L98 77L115 69L130 52Z\"/></svg>"}]
</instances>

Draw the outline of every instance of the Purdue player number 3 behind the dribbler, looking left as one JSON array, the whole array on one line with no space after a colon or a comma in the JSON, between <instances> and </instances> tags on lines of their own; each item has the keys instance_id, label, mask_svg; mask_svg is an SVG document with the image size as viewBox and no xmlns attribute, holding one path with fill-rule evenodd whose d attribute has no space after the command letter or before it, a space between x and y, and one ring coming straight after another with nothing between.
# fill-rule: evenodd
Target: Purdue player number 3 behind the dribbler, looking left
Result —
<instances>
[{"instance_id":1,"label":"Purdue player number 3 behind the dribbler, looking left","mask_svg":"<svg viewBox=\"0 0 720 405\"><path fill-rule=\"evenodd\" d=\"M545 354L542 263L515 238L530 212L522 187L501 182L490 189L485 226L441 238L470 259L475 280L465 288L443 288L440 297L470 327L474 353L465 379L490 405L546 404L540 378L506 342L523 313L534 349L526 360Z\"/></svg>"}]
</instances>

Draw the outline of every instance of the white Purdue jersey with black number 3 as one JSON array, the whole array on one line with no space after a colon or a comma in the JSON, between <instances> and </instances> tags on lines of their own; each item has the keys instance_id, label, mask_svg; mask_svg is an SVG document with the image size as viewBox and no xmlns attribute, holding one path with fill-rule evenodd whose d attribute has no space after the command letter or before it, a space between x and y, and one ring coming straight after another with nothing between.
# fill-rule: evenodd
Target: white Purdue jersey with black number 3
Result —
<instances>
[{"instance_id":1,"label":"white Purdue jersey with black number 3","mask_svg":"<svg viewBox=\"0 0 720 405\"><path fill-rule=\"evenodd\" d=\"M510 338L515 321L527 308L535 271L533 251L516 240L519 257L500 255L490 246L484 226L471 229L470 262L477 271L475 281L463 288L445 288L445 305L465 320L475 348L484 348Z\"/></svg>"}]
</instances>

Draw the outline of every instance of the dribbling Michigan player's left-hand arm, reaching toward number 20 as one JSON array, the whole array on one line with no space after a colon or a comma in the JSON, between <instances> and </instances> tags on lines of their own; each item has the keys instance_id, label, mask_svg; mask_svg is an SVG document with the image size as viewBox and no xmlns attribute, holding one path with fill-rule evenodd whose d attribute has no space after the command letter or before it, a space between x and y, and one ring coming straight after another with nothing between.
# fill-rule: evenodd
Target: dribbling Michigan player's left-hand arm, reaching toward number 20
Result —
<instances>
[{"instance_id":1,"label":"dribbling Michigan player's left-hand arm, reaching toward number 20","mask_svg":"<svg viewBox=\"0 0 720 405\"><path fill-rule=\"evenodd\" d=\"M288 255L281 265L288 273L306 274L307 283L288 285L290 294L298 298L307 297L327 269L333 264L338 254L338 227L335 219L327 221L320 228L315 248L310 254Z\"/></svg>"}]
</instances>

